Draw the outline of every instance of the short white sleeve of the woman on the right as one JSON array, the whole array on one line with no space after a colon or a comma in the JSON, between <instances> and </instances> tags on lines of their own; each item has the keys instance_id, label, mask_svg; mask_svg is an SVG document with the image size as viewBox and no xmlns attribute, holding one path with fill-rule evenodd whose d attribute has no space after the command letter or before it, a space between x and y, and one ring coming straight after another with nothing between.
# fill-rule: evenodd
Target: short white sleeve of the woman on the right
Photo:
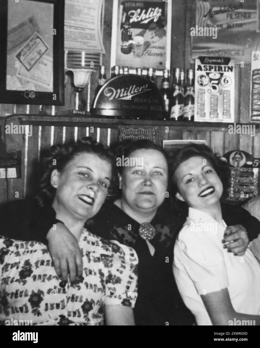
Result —
<instances>
[{"instance_id":1,"label":"short white sleeve of the woman on the right","mask_svg":"<svg viewBox=\"0 0 260 348\"><path fill-rule=\"evenodd\" d=\"M183 227L174 247L177 284L182 282L185 272L199 295L228 287L222 245L216 234L192 231L190 225Z\"/></svg>"}]
</instances>

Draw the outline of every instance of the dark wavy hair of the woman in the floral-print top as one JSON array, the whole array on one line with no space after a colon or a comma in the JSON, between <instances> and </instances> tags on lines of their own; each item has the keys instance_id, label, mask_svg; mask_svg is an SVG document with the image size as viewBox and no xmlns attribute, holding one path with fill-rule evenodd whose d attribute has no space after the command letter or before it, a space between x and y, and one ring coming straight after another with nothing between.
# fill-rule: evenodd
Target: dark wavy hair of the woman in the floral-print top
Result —
<instances>
[{"instance_id":1,"label":"dark wavy hair of the woman in the floral-print top","mask_svg":"<svg viewBox=\"0 0 260 348\"><path fill-rule=\"evenodd\" d=\"M80 153L91 153L108 161L113 171L114 157L112 152L91 137L85 137L77 140L77 142L69 142L63 145L53 145L42 160L43 174L40 179L40 189L36 195L36 202L39 206L52 205L53 203L56 189L50 184L52 171L57 169L62 172L65 166Z\"/></svg>"}]
</instances>

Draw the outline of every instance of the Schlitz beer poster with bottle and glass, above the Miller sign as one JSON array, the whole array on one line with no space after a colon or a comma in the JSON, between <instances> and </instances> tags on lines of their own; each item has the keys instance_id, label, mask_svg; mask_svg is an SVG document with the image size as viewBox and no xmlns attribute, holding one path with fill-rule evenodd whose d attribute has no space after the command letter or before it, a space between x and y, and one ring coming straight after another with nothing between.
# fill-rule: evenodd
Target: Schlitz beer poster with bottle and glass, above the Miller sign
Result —
<instances>
[{"instance_id":1,"label":"Schlitz beer poster with bottle and glass, above the Miller sign","mask_svg":"<svg viewBox=\"0 0 260 348\"><path fill-rule=\"evenodd\" d=\"M171 1L113 1L111 66L170 69Z\"/></svg>"}]
</instances>

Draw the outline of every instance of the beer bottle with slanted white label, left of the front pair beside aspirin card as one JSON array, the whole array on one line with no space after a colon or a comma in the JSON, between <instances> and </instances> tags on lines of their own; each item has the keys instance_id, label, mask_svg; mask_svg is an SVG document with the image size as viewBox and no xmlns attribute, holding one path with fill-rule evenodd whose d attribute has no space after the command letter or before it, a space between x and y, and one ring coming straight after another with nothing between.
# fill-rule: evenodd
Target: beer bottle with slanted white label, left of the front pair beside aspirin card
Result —
<instances>
[{"instance_id":1,"label":"beer bottle with slanted white label, left of the front pair beside aspirin card","mask_svg":"<svg viewBox=\"0 0 260 348\"><path fill-rule=\"evenodd\" d=\"M175 121L182 120L182 108L184 104L184 98L182 93L180 69L175 68L173 70L172 92L171 92L171 105L170 105L170 119Z\"/></svg>"}]
</instances>

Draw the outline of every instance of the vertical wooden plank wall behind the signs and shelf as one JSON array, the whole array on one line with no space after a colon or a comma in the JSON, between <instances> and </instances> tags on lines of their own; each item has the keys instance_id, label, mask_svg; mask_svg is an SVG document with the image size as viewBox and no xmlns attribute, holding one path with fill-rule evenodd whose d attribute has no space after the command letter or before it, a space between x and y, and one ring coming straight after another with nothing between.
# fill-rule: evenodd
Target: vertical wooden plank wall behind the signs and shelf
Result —
<instances>
[{"instance_id":1,"label":"vertical wooden plank wall behind the signs and shelf","mask_svg":"<svg viewBox=\"0 0 260 348\"><path fill-rule=\"evenodd\" d=\"M107 68L107 77L110 76L110 45L112 28L112 6L111 0L105 0L104 22L103 22L103 42L106 55L101 57L102 64ZM190 45L190 27L195 25L196 1L195 0L172 0L172 40L171 40L171 68L179 67L187 70L193 68L190 63L191 45ZM94 91L97 85L98 72L92 74L90 90L85 88L79 93L79 110L85 110L86 106L82 101L91 104ZM249 99L250 99L250 64L241 68L236 65L235 68L235 122L249 122ZM157 79L157 85L160 86L161 78ZM45 106L45 105L13 105L0 104L0 115L8 114L40 114L44 119L46 115L59 115L64 110L75 109L76 92L71 87L71 77L66 75L65 83L65 105L64 106ZM165 126L169 126L169 132L165 132ZM173 122L165 121L165 126L159 127L161 140L167 139L199 139L206 140L207 144L214 151L223 154L230 150L241 149L251 153L254 157L260 157L260 139L259 133L255 137L250 135L228 134L227 128L191 128L175 127ZM187 124L187 126L189 126ZM94 139L100 140L104 144L111 144L117 141L116 128L97 128L94 132L89 132L91 124L87 122L86 127L66 127L64 125L52 126L33 126L33 136L25 139L25 148L23 150L23 178L9 179L9 200L14 199L14 193L21 192L19 198L32 195L38 183L39 160L42 151L53 143L64 142L71 139L89 135ZM27 160L26 160L27 159ZM25 161L26 160L26 161ZM0 202L6 200L6 181L0 180Z\"/></svg>"}]
</instances>

